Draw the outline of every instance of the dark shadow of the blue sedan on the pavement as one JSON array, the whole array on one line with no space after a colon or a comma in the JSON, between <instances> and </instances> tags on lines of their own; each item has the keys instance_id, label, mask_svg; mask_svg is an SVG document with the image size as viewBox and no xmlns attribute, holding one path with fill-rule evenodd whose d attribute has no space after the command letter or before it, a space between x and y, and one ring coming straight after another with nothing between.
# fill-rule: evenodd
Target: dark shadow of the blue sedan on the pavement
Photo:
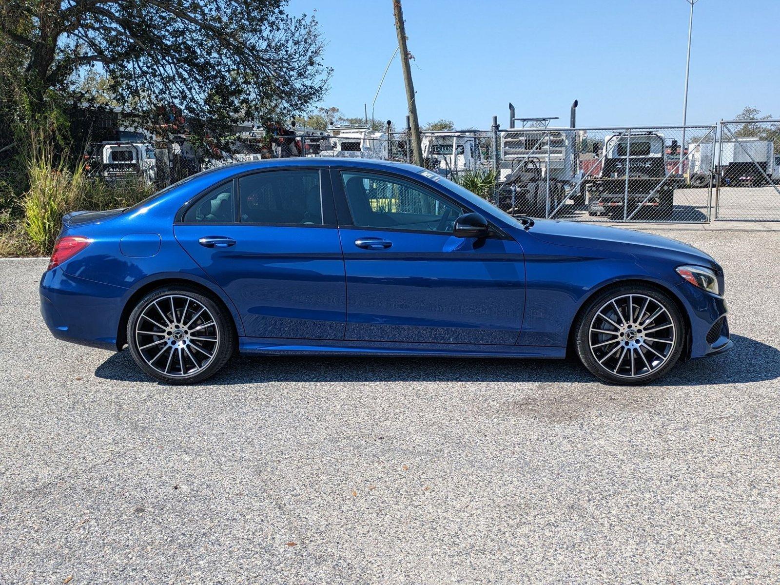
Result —
<instances>
[{"instance_id":1,"label":"dark shadow of the blue sedan on the pavement","mask_svg":"<svg viewBox=\"0 0 780 585\"><path fill-rule=\"evenodd\" d=\"M741 335L734 348L719 356L679 363L658 386L744 384L780 378L780 351ZM151 381L133 362L129 351L115 353L95 371L97 378ZM463 359L381 356L237 356L204 385L251 384L271 381L491 381L593 382L579 360Z\"/></svg>"}]
</instances>

